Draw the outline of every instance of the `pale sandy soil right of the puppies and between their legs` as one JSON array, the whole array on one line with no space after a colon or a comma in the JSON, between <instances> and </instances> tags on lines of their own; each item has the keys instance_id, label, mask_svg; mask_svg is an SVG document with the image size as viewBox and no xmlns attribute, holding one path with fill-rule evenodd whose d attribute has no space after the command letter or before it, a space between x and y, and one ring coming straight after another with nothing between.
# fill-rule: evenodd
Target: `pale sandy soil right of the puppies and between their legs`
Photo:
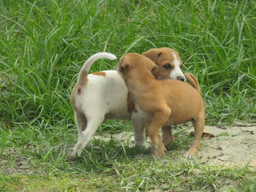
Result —
<instances>
[{"instance_id":1,"label":"pale sandy soil right of the puppies and between their legs","mask_svg":"<svg viewBox=\"0 0 256 192\"><path fill-rule=\"evenodd\" d=\"M194 129L191 127L187 133ZM175 133L176 130L174 129ZM217 128L216 126L206 126L205 133L212 134L212 138L204 138L201 142L200 150L197 153L197 160L201 164L219 164L256 167L256 124L235 123L233 126ZM114 134L113 138L126 141L133 139L132 132ZM96 137L97 139L106 139ZM147 139L147 145L150 142ZM182 156L186 151L178 151L176 154ZM172 153L172 151L168 151Z\"/></svg>"}]
</instances>

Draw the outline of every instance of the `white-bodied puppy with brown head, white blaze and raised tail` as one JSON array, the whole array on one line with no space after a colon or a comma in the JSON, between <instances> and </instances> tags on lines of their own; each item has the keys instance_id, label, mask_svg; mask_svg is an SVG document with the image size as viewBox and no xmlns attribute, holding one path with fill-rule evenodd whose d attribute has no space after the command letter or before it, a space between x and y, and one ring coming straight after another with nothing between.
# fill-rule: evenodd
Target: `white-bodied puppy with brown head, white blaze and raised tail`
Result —
<instances>
[{"instance_id":1,"label":"white-bodied puppy with brown head, white blaze and raised tail","mask_svg":"<svg viewBox=\"0 0 256 192\"><path fill-rule=\"evenodd\" d=\"M183 64L175 50L152 49L144 54L154 58L159 65L159 72L155 71L158 78L185 79L181 72ZM127 85L118 72L109 70L89 74L91 65L100 58L113 60L116 56L110 53L92 55L80 70L78 82L71 93L72 108L78 127L78 142L71 149L70 157L79 156L83 147L90 147L89 140L105 119L132 120L135 145L143 147L146 140L143 118L134 111ZM169 127L166 129L170 131Z\"/></svg>"}]
</instances>

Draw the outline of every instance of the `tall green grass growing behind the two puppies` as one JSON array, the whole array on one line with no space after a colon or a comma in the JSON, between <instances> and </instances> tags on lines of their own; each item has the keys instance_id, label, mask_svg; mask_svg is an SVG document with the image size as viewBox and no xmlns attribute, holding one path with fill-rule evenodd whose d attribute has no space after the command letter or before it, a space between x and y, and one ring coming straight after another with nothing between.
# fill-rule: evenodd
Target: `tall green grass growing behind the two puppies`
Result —
<instances>
[{"instance_id":1,"label":"tall green grass growing behind the two puppies","mask_svg":"<svg viewBox=\"0 0 256 192\"><path fill-rule=\"evenodd\" d=\"M206 121L255 120L255 1L0 1L4 122L73 123L69 93L89 55L172 47L197 75ZM113 69L102 61L91 72Z\"/></svg>"}]
</instances>

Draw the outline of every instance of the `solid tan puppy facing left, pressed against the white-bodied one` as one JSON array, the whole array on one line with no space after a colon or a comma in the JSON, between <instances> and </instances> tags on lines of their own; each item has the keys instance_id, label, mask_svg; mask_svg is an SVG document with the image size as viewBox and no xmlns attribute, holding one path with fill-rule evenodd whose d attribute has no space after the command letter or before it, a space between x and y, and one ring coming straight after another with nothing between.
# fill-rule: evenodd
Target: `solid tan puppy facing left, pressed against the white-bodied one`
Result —
<instances>
[{"instance_id":1,"label":"solid tan puppy facing left, pressed against the white-bodied one","mask_svg":"<svg viewBox=\"0 0 256 192\"><path fill-rule=\"evenodd\" d=\"M198 89L179 80L156 80L152 74L158 66L138 53L124 55L117 69L132 94L136 110L145 119L154 156L164 155L165 146L170 142L170 135L165 133L160 140L159 129L162 126L192 120L195 137L185 156L193 158L200 145L205 119L204 101Z\"/></svg>"}]
</instances>

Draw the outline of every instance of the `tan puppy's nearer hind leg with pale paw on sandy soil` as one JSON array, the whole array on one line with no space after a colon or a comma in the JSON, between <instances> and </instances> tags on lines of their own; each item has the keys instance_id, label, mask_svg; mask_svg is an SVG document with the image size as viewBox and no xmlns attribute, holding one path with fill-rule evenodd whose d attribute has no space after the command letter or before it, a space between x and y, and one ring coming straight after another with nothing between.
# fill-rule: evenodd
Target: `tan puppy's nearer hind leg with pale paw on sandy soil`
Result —
<instances>
[{"instance_id":1,"label":"tan puppy's nearer hind leg with pale paw on sandy soil","mask_svg":"<svg viewBox=\"0 0 256 192\"><path fill-rule=\"evenodd\" d=\"M205 115L204 115L204 112L200 112L197 115L197 117L193 119L193 126L195 128L194 140L192 142L191 147L187 151L187 153L184 154L184 157L189 159L194 158L195 153L197 153L197 150L199 149L200 139L203 134L204 124L205 124Z\"/></svg>"}]
</instances>

